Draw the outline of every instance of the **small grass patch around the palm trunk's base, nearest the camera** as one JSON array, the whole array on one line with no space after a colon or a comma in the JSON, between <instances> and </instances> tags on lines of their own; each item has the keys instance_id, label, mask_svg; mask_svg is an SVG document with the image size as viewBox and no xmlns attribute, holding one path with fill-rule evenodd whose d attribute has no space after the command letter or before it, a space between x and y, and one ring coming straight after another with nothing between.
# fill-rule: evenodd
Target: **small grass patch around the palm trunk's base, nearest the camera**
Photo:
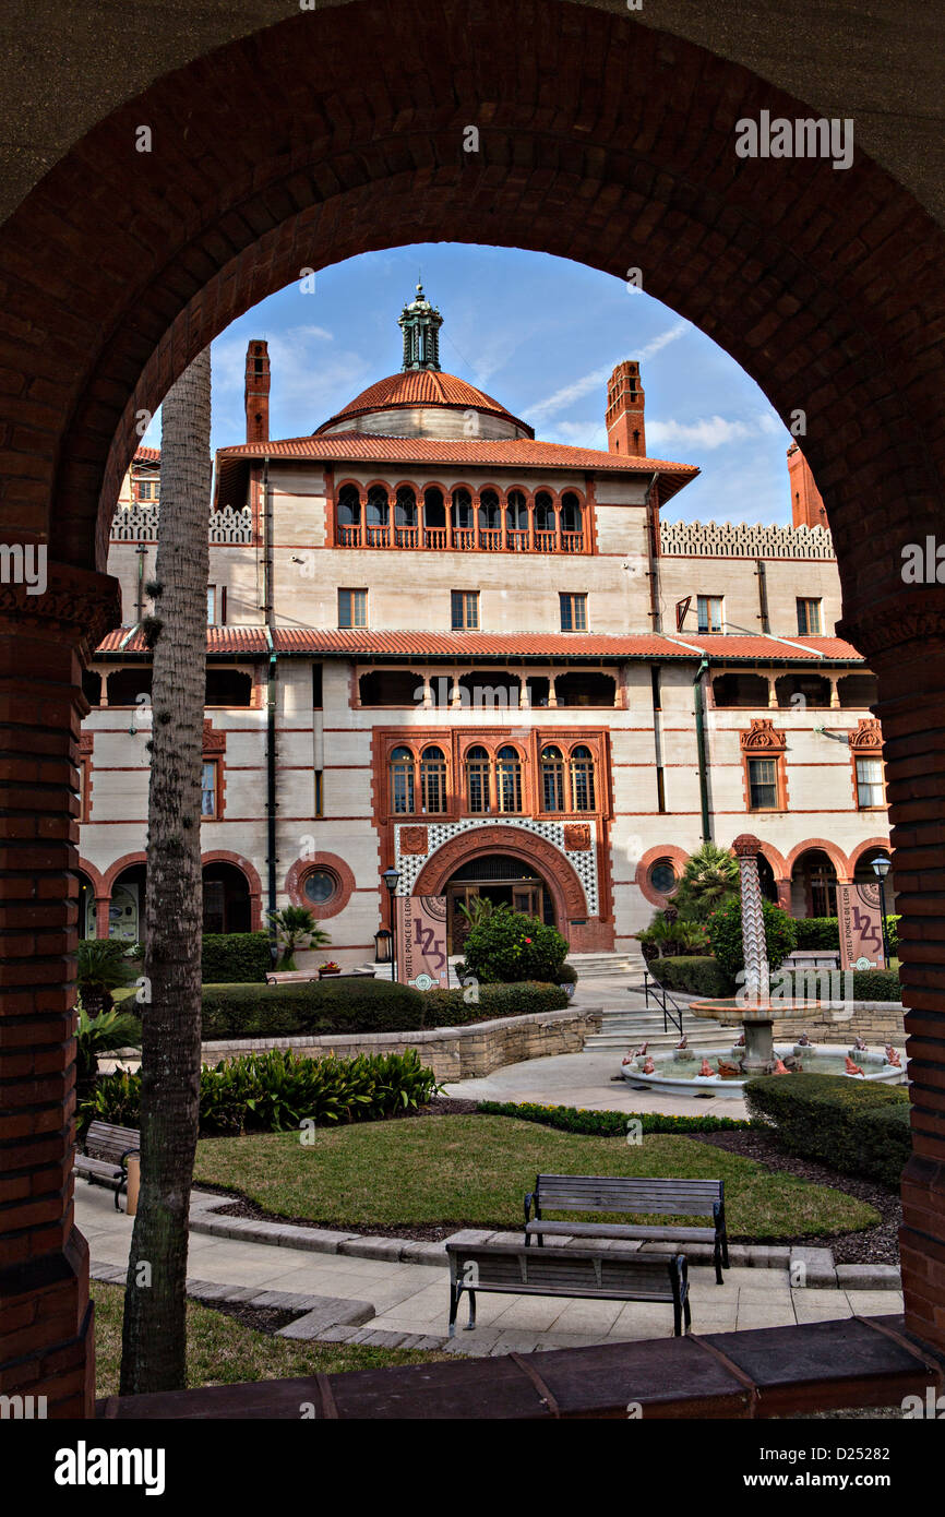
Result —
<instances>
[{"instance_id":1,"label":"small grass patch around the palm trunk's base, nearest the camera","mask_svg":"<svg viewBox=\"0 0 945 1517\"><path fill-rule=\"evenodd\" d=\"M446 1279L446 1277L444 1277ZM118 1394L124 1288L91 1282L96 1303L96 1396ZM444 1286L446 1299L446 1286ZM429 1364L441 1353L369 1349L344 1343L293 1343L255 1332L197 1302L187 1303L187 1387L241 1380L288 1380L299 1374L375 1370L388 1364Z\"/></svg>"}]
</instances>

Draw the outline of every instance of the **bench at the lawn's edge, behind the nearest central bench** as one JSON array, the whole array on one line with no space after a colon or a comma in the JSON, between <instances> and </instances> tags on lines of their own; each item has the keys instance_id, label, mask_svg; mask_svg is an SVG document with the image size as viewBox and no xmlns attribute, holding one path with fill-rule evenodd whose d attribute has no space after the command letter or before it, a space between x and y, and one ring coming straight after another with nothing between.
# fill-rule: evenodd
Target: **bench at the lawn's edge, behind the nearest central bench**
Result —
<instances>
[{"instance_id":1,"label":"bench at the lawn's edge, behind the nearest central bench","mask_svg":"<svg viewBox=\"0 0 945 1517\"><path fill-rule=\"evenodd\" d=\"M534 1220L531 1212L534 1208ZM546 1223L549 1212L633 1212L637 1217L711 1217L711 1227L683 1227L639 1223ZM545 1235L569 1238L642 1238L669 1242L711 1242L716 1283L722 1285L722 1265L728 1268L725 1229L725 1189L722 1180L626 1179L605 1174L538 1174L535 1188L525 1197L525 1244L538 1244Z\"/></svg>"}]
</instances>

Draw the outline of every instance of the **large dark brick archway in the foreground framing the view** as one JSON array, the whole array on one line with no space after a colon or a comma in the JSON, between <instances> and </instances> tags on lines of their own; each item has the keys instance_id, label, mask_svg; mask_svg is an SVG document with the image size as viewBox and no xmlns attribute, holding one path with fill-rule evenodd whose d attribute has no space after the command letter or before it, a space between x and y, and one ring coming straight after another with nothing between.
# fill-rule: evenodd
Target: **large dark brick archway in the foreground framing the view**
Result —
<instances>
[{"instance_id":1,"label":"large dark brick archway in the foreground framing the view","mask_svg":"<svg viewBox=\"0 0 945 1517\"><path fill-rule=\"evenodd\" d=\"M35 998L33 1053L49 1071L39 1085L15 1071L11 1085L21 1083L18 1132L55 1133L42 1157L29 1136L12 1139L39 1189L5 1208L0 1259L20 1271L30 1311L39 1282L58 1282L29 1374L9 1382L55 1385L50 1415L91 1411L88 1248L68 1179L70 818L82 649L118 619L115 584L97 570L135 423L214 335L302 269L417 240L538 249L620 279L639 267L648 293L730 352L786 420L805 416L840 628L880 681L892 842L909 886L907 1025L922 1039L903 1279L907 1324L945 1347L945 1038L924 1015L945 991L943 913L928 909L930 895L945 900L945 587L901 579L901 549L937 537L945 519L945 234L859 150L843 173L784 159L774 177L769 161L737 159L740 118L818 112L619 11L470 0L425 11L420 27L411 0L296 12L127 100L0 228L0 539L55 549L42 596L0 587L15 730L0 778L21 822L5 860L17 945L5 974ZM542 67L525 38L540 39ZM364 65L352 76L355 56ZM133 147L143 121L156 144L147 164ZM478 153L463 152L467 123L479 126Z\"/></svg>"}]
</instances>

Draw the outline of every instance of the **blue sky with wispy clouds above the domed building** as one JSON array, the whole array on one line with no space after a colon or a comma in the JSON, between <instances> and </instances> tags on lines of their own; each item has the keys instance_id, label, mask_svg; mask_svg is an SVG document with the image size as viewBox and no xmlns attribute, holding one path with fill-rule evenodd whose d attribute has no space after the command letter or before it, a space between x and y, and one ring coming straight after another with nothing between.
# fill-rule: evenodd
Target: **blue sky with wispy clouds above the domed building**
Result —
<instances>
[{"instance_id":1,"label":"blue sky with wispy clouds above the domed building","mask_svg":"<svg viewBox=\"0 0 945 1517\"><path fill-rule=\"evenodd\" d=\"M696 326L620 279L516 247L432 243L364 253L293 284L212 344L212 446L246 437L243 372L268 341L273 437L312 432L400 369L397 316L422 272L443 316L440 363L552 443L607 448L607 376L637 358L651 457L698 464L667 520L790 522L790 434L757 384ZM159 444L159 417L146 435Z\"/></svg>"}]
</instances>

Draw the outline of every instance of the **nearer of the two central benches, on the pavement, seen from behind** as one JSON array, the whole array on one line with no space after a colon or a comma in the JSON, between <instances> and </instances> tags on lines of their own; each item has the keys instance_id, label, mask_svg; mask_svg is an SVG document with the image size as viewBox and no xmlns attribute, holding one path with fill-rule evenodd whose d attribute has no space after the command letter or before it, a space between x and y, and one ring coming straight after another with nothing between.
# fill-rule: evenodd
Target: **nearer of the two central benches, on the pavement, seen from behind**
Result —
<instances>
[{"instance_id":1,"label":"nearer of the two central benches, on the pavement, seen from behind","mask_svg":"<svg viewBox=\"0 0 945 1517\"><path fill-rule=\"evenodd\" d=\"M449 1336L457 1330L463 1291L469 1292L469 1321L476 1326L476 1292L510 1296L575 1296L595 1302L672 1302L673 1335L689 1332L689 1276L681 1253L640 1258L590 1248L529 1248L526 1244L447 1242Z\"/></svg>"}]
</instances>

